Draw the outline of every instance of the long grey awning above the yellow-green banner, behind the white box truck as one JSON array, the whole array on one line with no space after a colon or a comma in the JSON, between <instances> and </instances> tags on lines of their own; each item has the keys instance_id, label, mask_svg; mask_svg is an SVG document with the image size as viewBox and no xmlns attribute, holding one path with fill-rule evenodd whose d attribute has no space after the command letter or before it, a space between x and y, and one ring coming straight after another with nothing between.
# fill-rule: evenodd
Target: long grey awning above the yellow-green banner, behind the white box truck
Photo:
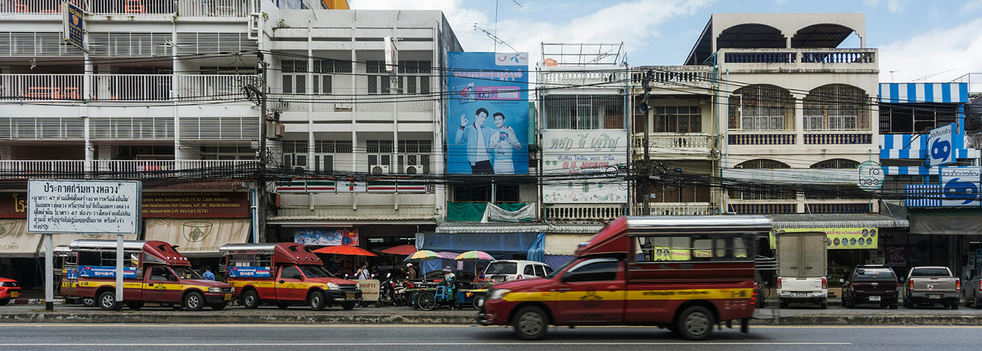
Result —
<instances>
[{"instance_id":1,"label":"long grey awning above the yellow-green banner, behind the white box truck","mask_svg":"<svg viewBox=\"0 0 982 351\"><path fill-rule=\"evenodd\" d=\"M771 214L775 228L906 228L910 222L883 214Z\"/></svg>"}]
</instances>

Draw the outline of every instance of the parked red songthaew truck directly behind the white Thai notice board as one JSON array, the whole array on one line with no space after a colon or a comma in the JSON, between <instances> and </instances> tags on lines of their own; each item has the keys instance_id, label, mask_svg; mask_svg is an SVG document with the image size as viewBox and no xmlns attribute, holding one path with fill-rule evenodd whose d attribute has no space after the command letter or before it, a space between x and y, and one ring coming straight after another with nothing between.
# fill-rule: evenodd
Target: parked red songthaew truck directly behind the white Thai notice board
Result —
<instances>
[{"instance_id":1,"label":"parked red songthaew truck directly behind the white Thai notice board","mask_svg":"<svg viewBox=\"0 0 982 351\"><path fill-rule=\"evenodd\" d=\"M224 309L232 300L233 288L220 281L202 279L184 255L162 241L124 242L123 301L132 310L145 303L181 304L185 310L205 306ZM94 299L103 310L115 310L116 241L76 240L69 244L77 255L74 293ZM66 286L63 283L62 289Z\"/></svg>"}]
</instances>

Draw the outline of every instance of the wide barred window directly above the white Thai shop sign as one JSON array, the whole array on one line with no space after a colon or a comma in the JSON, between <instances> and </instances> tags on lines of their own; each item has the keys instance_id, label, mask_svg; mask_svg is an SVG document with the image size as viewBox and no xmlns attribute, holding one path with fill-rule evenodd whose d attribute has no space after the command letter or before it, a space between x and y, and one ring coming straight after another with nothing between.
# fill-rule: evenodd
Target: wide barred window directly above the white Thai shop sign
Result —
<instances>
[{"instance_id":1,"label":"wide barred window directly above the white Thai shop sign","mask_svg":"<svg viewBox=\"0 0 982 351\"><path fill-rule=\"evenodd\" d=\"M623 129L624 96L551 94L543 98L547 129Z\"/></svg>"}]
</instances>

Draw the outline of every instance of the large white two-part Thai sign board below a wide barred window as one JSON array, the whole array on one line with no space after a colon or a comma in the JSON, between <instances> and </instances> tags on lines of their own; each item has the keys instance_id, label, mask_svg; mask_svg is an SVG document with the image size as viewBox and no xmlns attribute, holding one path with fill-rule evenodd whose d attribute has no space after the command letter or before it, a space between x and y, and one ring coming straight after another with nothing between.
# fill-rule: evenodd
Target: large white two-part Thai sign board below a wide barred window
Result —
<instances>
[{"instance_id":1,"label":"large white two-part Thai sign board below a wide barred window","mask_svg":"<svg viewBox=\"0 0 982 351\"><path fill-rule=\"evenodd\" d=\"M627 182L611 174L627 164L627 131L545 130L542 132L542 171L546 175L582 175L583 179L547 181L542 199L546 204L625 204ZM621 179L616 179L621 178Z\"/></svg>"}]
</instances>

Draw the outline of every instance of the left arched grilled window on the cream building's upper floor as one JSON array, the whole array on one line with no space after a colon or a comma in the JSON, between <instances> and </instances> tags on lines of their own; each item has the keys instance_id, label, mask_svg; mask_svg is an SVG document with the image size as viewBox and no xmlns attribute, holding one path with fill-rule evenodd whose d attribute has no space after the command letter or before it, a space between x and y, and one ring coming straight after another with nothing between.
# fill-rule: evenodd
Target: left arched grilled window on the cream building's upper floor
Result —
<instances>
[{"instance_id":1,"label":"left arched grilled window on the cream building's upper floor","mask_svg":"<svg viewBox=\"0 0 982 351\"><path fill-rule=\"evenodd\" d=\"M794 97L788 89L770 85L738 88L730 95L730 129L794 130Z\"/></svg>"}]
</instances>

